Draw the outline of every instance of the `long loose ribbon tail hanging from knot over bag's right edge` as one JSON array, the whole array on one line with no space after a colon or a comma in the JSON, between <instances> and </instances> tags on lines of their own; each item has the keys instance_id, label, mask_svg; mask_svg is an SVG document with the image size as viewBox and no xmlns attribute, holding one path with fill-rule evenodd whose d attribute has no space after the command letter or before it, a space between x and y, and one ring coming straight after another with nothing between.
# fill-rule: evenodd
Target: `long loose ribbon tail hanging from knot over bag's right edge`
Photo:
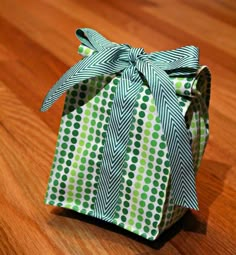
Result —
<instances>
[{"instance_id":1,"label":"long loose ribbon tail hanging from knot over bag's right edge","mask_svg":"<svg viewBox=\"0 0 236 255\"><path fill-rule=\"evenodd\" d=\"M140 60L136 66L148 81L166 136L174 203L198 210L190 138L172 81L152 61Z\"/></svg>"}]
</instances>

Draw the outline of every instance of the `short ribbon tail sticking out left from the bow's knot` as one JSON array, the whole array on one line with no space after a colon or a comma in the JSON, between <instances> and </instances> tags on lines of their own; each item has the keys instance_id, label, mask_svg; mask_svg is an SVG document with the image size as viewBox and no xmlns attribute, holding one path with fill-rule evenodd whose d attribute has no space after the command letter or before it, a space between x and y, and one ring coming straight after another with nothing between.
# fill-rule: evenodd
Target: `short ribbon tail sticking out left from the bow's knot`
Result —
<instances>
[{"instance_id":1,"label":"short ribbon tail sticking out left from the bow's knot","mask_svg":"<svg viewBox=\"0 0 236 255\"><path fill-rule=\"evenodd\" d=\"M92 77L116 73L124 69L125 63L118 60L121 51L122 49L118 47L102 50L76 63L49 90L43 101L41 111L47 111L64 92L75 84Z\"/></svg>"}]
</instances>

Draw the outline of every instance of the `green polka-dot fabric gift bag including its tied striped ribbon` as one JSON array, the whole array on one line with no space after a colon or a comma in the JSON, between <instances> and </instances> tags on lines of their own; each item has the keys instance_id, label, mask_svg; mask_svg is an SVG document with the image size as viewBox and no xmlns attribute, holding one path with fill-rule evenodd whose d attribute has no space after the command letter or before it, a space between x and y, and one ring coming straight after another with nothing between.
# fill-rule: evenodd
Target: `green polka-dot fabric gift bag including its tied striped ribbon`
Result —
<instances>
[{"instance_id":1,"label":"green polka-dot fabric gift bag including its tied striped ribbon","mask_svg":"<svg viewBox=\"0 0 236 255\"><path fill-rule=\"evenodd\" d=\"M78 29L83 59L48 92L66 92L45 203L155 240L198 209L209 136L210 72L199 50L145 53Z\"/></svg>"}]
</instances>

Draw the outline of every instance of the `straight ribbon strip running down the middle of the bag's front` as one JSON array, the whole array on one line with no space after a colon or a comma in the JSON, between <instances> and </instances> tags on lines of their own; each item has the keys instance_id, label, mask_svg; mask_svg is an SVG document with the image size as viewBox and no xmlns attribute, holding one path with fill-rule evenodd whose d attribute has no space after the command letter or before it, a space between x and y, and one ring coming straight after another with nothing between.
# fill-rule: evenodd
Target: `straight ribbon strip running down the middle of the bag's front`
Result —
<instances>
[{"instance_id":1,"label":"straight ribbon strip running down the middle of the bag's front","mask_svg":"<svg viewBox=\"0 0 236 255\"><path fill-rule=\"evenodd\" d=\"M96 217L111 219L115 212L134 105L142 83L137 69L130 66L122 73L117 86L104 145Z\"/></svg>"}]
</instances>

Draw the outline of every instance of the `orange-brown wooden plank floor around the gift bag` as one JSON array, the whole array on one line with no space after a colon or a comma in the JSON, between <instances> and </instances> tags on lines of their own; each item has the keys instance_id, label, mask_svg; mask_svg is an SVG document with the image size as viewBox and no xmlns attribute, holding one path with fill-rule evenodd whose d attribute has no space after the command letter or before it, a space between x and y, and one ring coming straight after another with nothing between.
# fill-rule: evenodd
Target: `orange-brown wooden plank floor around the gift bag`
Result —
<instances>
[{"instance_id":1,"label":"orange-brown wooden plank floor around the gift bag","mask_svg":"<svg viewBox=\"0 0 236 255\"><path fill-rule=\"evenodd\" d=\"M212 71L200 211L158 241L43 203L63 99L39 108L91 27L147 52L193 44ZM236 254L236 1L0 1L0 254Z\"/></svg>"}]
</instances>

